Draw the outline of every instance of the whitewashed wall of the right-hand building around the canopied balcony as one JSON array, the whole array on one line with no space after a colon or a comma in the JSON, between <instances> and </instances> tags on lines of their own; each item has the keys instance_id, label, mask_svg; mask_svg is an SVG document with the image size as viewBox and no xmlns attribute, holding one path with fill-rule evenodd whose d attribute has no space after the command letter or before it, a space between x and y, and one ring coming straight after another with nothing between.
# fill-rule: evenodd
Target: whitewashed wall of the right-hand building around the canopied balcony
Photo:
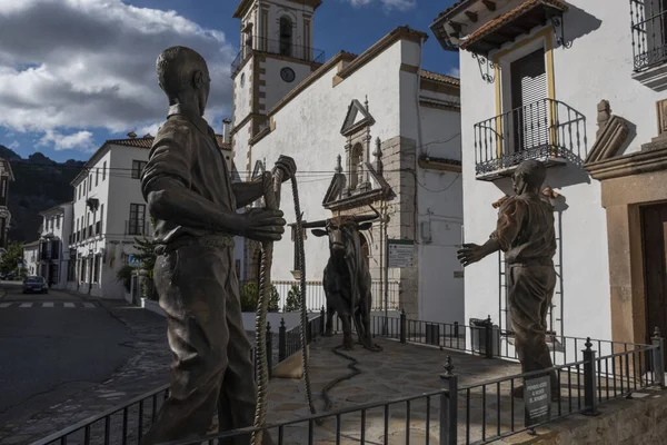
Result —
<instances>
[{"instance_id":1,"label":"whitewashed wall of the right-hand building around the canopied balcony","mask_svg":"<svg viewBox=\"0 0 667 445\"><path fill-rule=\"evenodd\" d=\"M621 0L574 0L564 17L571 48L554 50L556 99L584 113L587 149L595 142L597 103L608 99L613 113L631 123L625 152L640 149L657 134L655 92L633 79L629 4ZM539 32L539 29L534 33ZM517 39L520 42L522 39ZM509 180L475 179L474 125L496 115L495 85L486 83L477 61L461 51L465 237L484 243L494 230L491 202L510 190ZM502 81L496 79L496 81ZM634 135L636 131L636 136ZM611 338L609 271L600 185L578 168L549 169L546 185L566 198L563 221L564 323L566 335ZM502 189L502 190L501 190ZM555 214L559 218L558 214ZM559 255L556 256L559 261ZM486 317L498 306L498 261L494 255L466 271L466 320ZM497 320L497 309L491 312Z\"/></svg>"}]
</instances>

